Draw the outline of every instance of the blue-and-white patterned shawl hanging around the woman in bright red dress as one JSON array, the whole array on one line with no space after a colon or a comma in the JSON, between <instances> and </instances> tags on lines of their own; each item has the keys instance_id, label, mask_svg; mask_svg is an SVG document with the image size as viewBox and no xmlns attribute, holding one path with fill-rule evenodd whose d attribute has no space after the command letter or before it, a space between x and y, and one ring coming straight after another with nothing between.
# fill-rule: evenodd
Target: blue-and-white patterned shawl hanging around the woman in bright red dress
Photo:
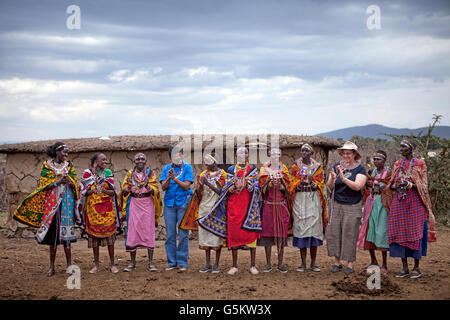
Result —
<instances>
[{"instance_id":1,"label":"blue-and-white patterned shawl hanging around the woman in bright red dress","mask_svg":"<svg viewBox=\"0 0 450 320\"><path fill-rule=\"evenodd\" d=\"M225 186L209 213L197 222L199 226L205 228L209 232L221 238L227 238L227 201L228 191L234 186L236 166L231 166L227 172ZM261 232L261 215L260 209L262 205L261 190L258 183L258 169L250 166L250 172L245 176L246 188L252 193L252 197L247 209L247 214L242 223L241 228L247 231Z\"/></svg>"}]
</instances>

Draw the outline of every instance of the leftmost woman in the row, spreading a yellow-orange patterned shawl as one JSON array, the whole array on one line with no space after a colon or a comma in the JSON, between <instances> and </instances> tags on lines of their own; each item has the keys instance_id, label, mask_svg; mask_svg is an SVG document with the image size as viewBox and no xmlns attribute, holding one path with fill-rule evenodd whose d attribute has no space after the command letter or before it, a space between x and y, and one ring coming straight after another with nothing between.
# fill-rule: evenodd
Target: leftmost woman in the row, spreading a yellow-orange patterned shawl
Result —
<instances>
[{"instance_id":1,"label":"leftmost woman in the row, spreading a yellow-orange patterned shawl","mask_svg":"<svg viewBox=\"0 0 450 320\"><path fill-rule=\"evenodd\" d=\"M48 147L47 155L50 159L42 164L39 187L23 200L14 212L14 219L39 228L36 241L50 246L50 268L46 273L50 277L55 274L58 244L64 246L66 272L72 273L70 243L77 241L74 211L78 182L75 168L67 160L68 148L64 143L56 142Z\"/></svg>"}]
</instances>

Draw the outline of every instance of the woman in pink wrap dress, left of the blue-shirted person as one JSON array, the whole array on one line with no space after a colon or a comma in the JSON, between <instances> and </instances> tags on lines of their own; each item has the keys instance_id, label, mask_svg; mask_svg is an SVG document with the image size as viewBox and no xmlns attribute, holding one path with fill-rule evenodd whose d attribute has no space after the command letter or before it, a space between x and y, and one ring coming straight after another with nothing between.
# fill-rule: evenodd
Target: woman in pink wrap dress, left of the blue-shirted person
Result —
<instances>
[{"instance_id":1,"label":"woman in pink wrap dress, left of the blue-shirted person","mask_svg":"<svg viewBox=\"0 0 450 320\"><path fill-rule=\"evenodd\" d=\"M122 184L122 205L127 221L125 247L131 256L131 264L124 271L129 272L136 268L136 250L138 248L147 248L148 269L156 271L153 264L153 249L155 247L155 227L161 215L161 197L155 172L146 167L145 155L143 153L136 154L134 163L134 169L128 171Z\"/></svg>"}]
</instances>

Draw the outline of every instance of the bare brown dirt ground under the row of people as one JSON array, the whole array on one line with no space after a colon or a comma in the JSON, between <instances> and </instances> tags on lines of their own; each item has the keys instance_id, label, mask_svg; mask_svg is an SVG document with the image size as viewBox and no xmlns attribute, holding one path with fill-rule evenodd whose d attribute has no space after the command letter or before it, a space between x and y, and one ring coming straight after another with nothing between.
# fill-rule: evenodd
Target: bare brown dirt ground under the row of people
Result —
<instances>
[{"instance_id":1,"label":"bare brown dirt ground under the row of people","mask_svg":"<svg viewBox=\"0 0 450 320\"><path fill-rule=\"evenodd\" d=\"M146 269L146 250L138 251L137 269L123 272L129 263L129 254L124 250L124 241L115 245L116 263L120 272L113 275L108 268L106 247L100 250L101 271L89 274L92 267L92 251L87 241L78 240L72 246L73 263L81 268L81 289L68 289L65 273L65 257L61 249L56 259L56 274L48 278L49 266L47 246L37 245L33 239L8 239L0 237L0 299L186 299L186 300L329 300L329 299L388 299L388 300L449 300L450 299L450 231L439 231L438 242L429 244L428 256L422 259L422 277L418 279L396 278L401 269L400 259L388 258L389 274L382 277L380 290L368 290L368 276L361 267L369 262L369 254L358 250L355 274L345 276L343 272L331 273L333 259L327 256L326 246L318 250L317 264L321 272L296 272L300 265L299 250L287 247L285 265L288 273L275 270L276 256L272 253L274 269L271 273L252 275L249 272L250 253L240 251L239 272L229 276L231 252L223 250L219 274L202 274L198 269L204 265L204 251L196 241L190 242L189 268L187 272L165 271L166 255L164 242L158 241L154 262L157 272ZM308 253L309 254L309 253ZM257 268L265 265L262 247L257 249ZM381 256L379 254L380 260ZM309 257L308 257L309 264ZM412 267L412 261L410 261Z\"/></svg>"}]
</instances>

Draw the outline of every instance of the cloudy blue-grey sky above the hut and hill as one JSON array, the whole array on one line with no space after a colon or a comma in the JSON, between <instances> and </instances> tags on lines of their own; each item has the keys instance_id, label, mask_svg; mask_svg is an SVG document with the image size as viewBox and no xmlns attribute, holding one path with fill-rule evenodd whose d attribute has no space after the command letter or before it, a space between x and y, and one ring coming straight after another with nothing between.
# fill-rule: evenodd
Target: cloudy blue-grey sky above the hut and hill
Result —
<instances>
[{"instance_id":1,"label":"cloudy blue-grey sky above the hut and hill","mask_svg":"<svg viewBox=\"0 0 450 320\"><path fill-rule=\"evenodd\" d=\"M0 1L4 142L417 128L449 103L448 0Z\"/></svg>"}]
</instances>

